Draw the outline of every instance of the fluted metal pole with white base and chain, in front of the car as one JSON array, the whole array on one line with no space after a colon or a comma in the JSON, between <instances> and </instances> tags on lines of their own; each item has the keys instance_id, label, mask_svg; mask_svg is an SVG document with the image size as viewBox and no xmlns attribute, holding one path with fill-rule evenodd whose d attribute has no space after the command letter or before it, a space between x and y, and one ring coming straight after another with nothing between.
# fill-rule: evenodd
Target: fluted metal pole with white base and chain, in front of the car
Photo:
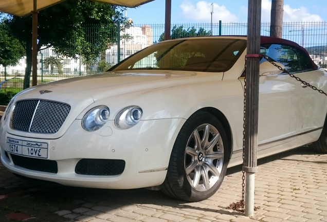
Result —
<instances>
[{"instance_id":1,"label":"fluted metal pole with white base and chain, in front of the car","mask_svg":"<svg viewBox=\"0 0 327 222\"><path fill-rule=\"evenodd\" d=\"M261 0L248 0L248 36L245 96L245 150L243 170L246 173L245 216L252 216L255 198L255 173L258 150L259 53Z\"/></svg>"}]
</instances>

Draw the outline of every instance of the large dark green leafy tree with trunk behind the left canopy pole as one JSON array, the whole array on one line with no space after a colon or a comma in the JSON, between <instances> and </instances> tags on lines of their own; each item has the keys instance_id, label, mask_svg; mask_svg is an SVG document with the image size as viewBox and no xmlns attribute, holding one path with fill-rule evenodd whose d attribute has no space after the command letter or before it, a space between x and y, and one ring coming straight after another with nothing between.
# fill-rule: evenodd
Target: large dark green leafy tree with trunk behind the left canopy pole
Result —
<instances>
[{"instance_id":1,"label":"large dark green leafy tree with trunk behind the left canopy pole","mask_svg":"<svg viewBox=\"0 0 327 222\"><path fill-rule=\"evenodd\" d=\"M64 1L39 12L38 50L53 47L60 55L96 61L108 44L117 42L117 23L128 25L115 5L84 0ZM88 33L89 26L97 25ZM32 18L10 16L8 26L25 46L27 68L24 88L29 87L32 67ZM96 38L93 38L97 36ZM116 36L110 38L110 36Z\"/></svg>"}]
</instances>

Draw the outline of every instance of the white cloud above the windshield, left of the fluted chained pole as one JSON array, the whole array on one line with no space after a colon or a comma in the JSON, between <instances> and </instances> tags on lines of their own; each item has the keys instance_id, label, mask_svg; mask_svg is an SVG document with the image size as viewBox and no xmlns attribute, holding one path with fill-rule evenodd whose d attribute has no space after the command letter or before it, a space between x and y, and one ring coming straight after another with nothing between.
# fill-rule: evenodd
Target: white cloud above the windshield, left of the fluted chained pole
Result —
<instances>
[{"instance_id":1,"label":"white cloud above the windshield, left of the fluted chained pole","mask_svg":"<svg viewBox=\"0 0 327 222\"><path fill-rule=\"evenodd\" d=\"M199 1L196 5L189 1L180 4L181 15L190 22L211 22L211 3ZM238 17L232 14L225 6L213 4L212 21L237 22Z\"/></svg>"}]
</instances>

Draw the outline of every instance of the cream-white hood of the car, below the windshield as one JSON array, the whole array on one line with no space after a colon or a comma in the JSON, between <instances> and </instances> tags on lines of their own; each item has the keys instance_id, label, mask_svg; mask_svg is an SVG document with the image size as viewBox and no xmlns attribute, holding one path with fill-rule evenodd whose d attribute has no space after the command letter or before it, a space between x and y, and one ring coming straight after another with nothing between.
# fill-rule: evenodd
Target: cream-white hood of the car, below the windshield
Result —
<instances>
[{"instance_id":1,"label":"cream-white hood of the car, below the windshield","mask_svg":"<svg viewBox=\"0 0 327 222\"><path fill-rule=\"evenodd\" d=\"M126 94L144 89L171 87L199 80L196 72L103 72L96 75L69 78L27 89L21 98L49 99L67 102L71 99L94 102L108 96ZM25 98L26 97L26 98Z\"/></svg>"}]
</instances>

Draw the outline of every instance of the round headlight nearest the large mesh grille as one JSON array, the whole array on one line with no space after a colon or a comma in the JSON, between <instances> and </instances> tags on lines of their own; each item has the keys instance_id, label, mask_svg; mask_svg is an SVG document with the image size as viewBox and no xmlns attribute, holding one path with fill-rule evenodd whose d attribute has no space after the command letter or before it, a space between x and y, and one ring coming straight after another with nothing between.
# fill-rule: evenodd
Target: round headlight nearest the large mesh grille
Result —
<instances>
[{"instance_id":1,"label":"round headlight nearest the large mesh grille","mask_svg":"<svg viewBox=\"0 0 327 222\"><path fill-rule=\"evenodd\" d=\"M99 130L108 120L110 109L106 106L97 106L90 109L82 119L84 130L92 132Z\"/></svg>"}]
</instances>

